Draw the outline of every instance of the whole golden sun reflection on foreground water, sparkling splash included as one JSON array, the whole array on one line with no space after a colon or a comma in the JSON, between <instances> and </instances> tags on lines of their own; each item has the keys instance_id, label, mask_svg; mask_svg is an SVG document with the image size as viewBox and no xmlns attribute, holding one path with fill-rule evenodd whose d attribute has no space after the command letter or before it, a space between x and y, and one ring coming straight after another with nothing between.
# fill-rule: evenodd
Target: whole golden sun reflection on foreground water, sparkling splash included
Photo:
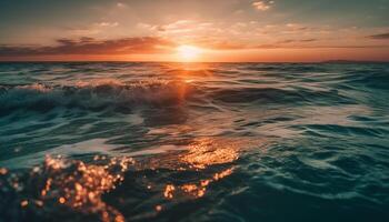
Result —
<instances>
[{"instance_id":1,"label":"whole golden sun reflection on foreground water, sparkling splash included","mask_svg":"<svg viewBox=\"0 0 389 222\"><path fill-rule=\"evenodd\" d=\"M9 188L19 193L17 203L23 212L47 212L56 216L58 210L69 209L86 216L97 216L100 221L120 222L128 216L126 212L103 198L112 193L126 195L127 191L119 185L134 185L130 186L131 190L144 188L146 195L159 193L149 209L158 214L182 199L203 198L210 192L211 184L230 176L236 170L232 163L239 159L243 143L247 147L247 141L242 140L199 138L187 143L186 149L150 155L150 160L143 162L139 158L137 163L127 157L96 155L89 162L47 157L43 164L31 169L28 175L10 176L12 173L1 168L0 179L6 176ZM160 176L147 179L150 170ZM126 176L139 175L142 180L132 183L129 178L126 182L124 173ZM180 180L163 180L170 173L180 175ZM0 188L7 185L2 182L0 180ZM34 194L31 195L32 190Z\"/></svg>"}]
</instances>

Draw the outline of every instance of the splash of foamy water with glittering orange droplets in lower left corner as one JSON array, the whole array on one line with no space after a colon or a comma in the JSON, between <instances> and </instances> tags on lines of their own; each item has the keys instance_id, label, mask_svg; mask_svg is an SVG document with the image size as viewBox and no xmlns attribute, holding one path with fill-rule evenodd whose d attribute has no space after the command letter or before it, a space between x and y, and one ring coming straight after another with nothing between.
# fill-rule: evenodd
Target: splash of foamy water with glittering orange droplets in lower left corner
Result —
<instances>
[{"instance_id":1,"label":"splash of foamy water with glittering orange droplets in lower left corner","mask_svg":"<svg viewBox=\"0 0 389 222\"><path fill-rule=\"evenodd\" d=\"M19 193L20 206L24 211L48 211L57 205L84 215L97 215L101 221L120 222L124 218L108 205L102 195L124 180L123 173L133 163L131 158L96 157L93 164L89 164L47 157L43 165L33 168L28 179L13 174L8 183ZM1 172L6 174L7 170L2 169ZM29 192L37 195L24 195L28 189L38 189Z\"/></svg>"}]
</instances>

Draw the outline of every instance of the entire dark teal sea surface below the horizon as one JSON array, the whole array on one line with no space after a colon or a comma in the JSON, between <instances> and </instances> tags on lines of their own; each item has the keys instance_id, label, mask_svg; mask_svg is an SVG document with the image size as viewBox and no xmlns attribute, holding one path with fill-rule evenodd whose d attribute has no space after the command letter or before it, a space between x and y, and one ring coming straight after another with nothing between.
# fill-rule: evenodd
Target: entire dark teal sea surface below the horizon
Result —
<instances>
[{"instance_id":1,"label":"entire dark teal sea surface below the horizon","mask_svg":"<svg viewBox=\"0 0 389 222\"><path fill-rule=\"evenodd\" d=\"M389 64L1 63L0 221L387 222Z\"/></svg>"}]
</instances>

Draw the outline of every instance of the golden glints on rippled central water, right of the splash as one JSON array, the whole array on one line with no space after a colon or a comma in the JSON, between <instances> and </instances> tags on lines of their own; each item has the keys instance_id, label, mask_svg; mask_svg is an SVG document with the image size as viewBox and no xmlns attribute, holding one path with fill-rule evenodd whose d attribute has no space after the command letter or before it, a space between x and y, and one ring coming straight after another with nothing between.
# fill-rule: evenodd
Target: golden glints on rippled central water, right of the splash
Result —
<instances>
[{"instance_id":1,"label":"golden glints on rippled central water, right of the splash","mask_svg":"<svg viewBox=\"0 0 389 222\"><path fill-rule=\"evenodd\" d=\"M163 131L163 133L167 133L167 131ZM186 145L176 145L179 149L168 150L166 153L160 153L157 158L151 157L150 159L146 159L137 168L139 170L169 169L172 171L203 171L211 165L223 168L223 170L213 172L212 174L205 172L205 175L200 176L197 181L188 183L170 182L164 184L161 190L161 195L170 201L182 196L202 198L206 195L207 189L211 183L233 173L235 168L230 164L239 159L240 152L253 145L258 145L258 141L200 138ZM144 188L150 189L151 185L146 184Z\"/></svg>"}]
</instances>

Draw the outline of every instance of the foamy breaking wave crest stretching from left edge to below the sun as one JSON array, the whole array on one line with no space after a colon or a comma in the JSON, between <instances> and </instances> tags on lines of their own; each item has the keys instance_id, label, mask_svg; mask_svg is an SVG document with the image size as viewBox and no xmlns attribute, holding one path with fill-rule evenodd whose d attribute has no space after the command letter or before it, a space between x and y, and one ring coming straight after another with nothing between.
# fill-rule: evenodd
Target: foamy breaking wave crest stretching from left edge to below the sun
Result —
<instances>
[{"instance_id":1,"label":"foamy breaking wave crest stretching from left edge to below the sun","mask_svg":"<svg viewBox=\"0 0 389 222\"><path fill-rule=\"evenodd\" d=\"M48 111L57 107L102 110L132 109L137 105L178 104L190 87L180 81L123 83L118 80L77 82L73 85L0 85L0 112L18 109Z\"/></svg>"}]
</instances>

